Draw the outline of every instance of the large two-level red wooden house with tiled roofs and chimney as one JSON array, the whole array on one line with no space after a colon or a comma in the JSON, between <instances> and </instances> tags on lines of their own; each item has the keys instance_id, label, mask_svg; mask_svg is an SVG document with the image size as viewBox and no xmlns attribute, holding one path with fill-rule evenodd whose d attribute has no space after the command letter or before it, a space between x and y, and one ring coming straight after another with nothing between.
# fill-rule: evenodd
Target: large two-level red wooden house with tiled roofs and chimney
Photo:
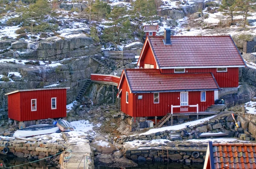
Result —
<instances>
[{"instance_id":1,"label":"large two-level red wooden house with tiled roofs and chimney","mask_svg":"<svg viewBox=\"0 0 256 169\"><path fill-rule=\"evenodd\" d=\"M245 67L230 36L148 36L137 66L123 70L121 111L132 117L203 112L218 90L238 87Z\"/></svg>"}]
</instances>

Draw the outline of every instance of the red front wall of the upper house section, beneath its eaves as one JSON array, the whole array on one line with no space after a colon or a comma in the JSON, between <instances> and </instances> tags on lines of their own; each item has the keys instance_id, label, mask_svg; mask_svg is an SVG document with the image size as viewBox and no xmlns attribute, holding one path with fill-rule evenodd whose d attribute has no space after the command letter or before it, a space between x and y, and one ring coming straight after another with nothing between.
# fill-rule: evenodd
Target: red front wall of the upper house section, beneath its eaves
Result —
<instances>
[{"instance_id":1,"label":"red front wall of the upper house section, beneath its eaves","mask_svg":"<svg viewBox=\"0 0 256 169\"><path fill-rule=\"evenodd\" d=\"M161 69L162 73L174 73L174 69ZM227 72L217 72L217 68L187 68L186 73L211 72L219 87L238 87L239 68L227 68Z\"/></svg>"}]
</instances>

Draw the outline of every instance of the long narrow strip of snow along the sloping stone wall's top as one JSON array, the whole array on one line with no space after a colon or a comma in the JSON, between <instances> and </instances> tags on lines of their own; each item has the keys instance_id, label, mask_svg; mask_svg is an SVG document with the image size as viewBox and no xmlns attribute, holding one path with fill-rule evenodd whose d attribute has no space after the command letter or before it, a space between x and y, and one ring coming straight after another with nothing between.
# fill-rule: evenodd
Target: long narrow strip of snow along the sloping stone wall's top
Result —
<instances>
[{"instance_id":1,"label":"long narrow strip of snow along the sloping stone wall's top","mask_svg":"<svg viewBox=\"0 0 256 169\"><path fill-rule=\"evenodd\" d=\"M180 129L185 128L188 125L189 126L194 126L196 124L204 123L204 121L208 121L210 118L214 118L215 116L216 115L212 115L212 116L207 117L207 118L202 118L202 119L195 120L195 121L189 121L187 123L183 123L183 124L179 124L179 125L175 125L175 126L161 127L159 129L151 129L151 130L148 130L147 132L141 133L140 135L148 135L148 134L151 134L151 133L163 132L165 130L180 130Z\"/></svg>"}]
</instances>

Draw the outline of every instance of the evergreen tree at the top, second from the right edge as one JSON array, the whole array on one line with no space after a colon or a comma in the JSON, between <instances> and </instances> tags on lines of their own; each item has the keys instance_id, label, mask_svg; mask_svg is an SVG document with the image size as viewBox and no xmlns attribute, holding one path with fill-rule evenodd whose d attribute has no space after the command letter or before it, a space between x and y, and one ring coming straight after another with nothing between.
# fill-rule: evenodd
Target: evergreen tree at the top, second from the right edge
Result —
<instances>
[{"instance_id":1,"label":"evergreen tree at the top, second from the right edge","mask_svg":"<svg viewBox=\"0 0 256 169\"><path fill-rule=\"evenodd\" d=\"M233 23L233 17L236 14L236 0L222 0L219 10L223 11L224 15L231 17L231 23Z\"/></svg>"}]
</instances>

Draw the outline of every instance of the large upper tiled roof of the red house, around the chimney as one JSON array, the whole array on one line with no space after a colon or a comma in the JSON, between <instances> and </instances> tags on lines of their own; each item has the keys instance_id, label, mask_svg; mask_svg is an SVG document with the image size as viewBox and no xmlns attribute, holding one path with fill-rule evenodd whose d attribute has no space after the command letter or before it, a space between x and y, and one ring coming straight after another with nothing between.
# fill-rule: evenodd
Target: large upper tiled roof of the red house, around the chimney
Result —
<instances>
[{"instance_id":1,"label":"large upper tiled roof of the red house, around the chimney","mask_svg":"<svg viewBox=\"0 0 256 169\"><path fill-rule=\"evenodd\" d=\"M159 67L245 65L230 36L171 36L171 45L163 39L148 37Z\"/></svg>"}]
</instances>

